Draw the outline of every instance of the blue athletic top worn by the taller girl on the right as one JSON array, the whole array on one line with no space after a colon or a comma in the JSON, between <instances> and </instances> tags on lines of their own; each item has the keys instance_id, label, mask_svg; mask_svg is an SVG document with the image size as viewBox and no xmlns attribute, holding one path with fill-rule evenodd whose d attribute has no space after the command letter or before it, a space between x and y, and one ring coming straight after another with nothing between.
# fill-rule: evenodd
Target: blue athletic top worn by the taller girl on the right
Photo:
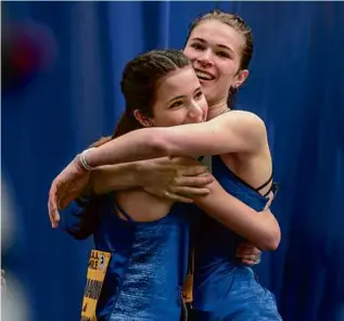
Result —
<instances>
[{"instance_id":1,"label":"blue athletic top worn by the taller girl on the right","mask_svg":"<svg viewBox=\"0 0 344 321\"><path fill-rule=\"evenodd\" d=\"M222 188L263 210L267 198L240 180L220 156L212 158L213 175ZM195 247L192 320L281 320L275 296L235 258L235 248L244 240L211 218L204 218L201 235Z\"/></svg>"}]
</instances>

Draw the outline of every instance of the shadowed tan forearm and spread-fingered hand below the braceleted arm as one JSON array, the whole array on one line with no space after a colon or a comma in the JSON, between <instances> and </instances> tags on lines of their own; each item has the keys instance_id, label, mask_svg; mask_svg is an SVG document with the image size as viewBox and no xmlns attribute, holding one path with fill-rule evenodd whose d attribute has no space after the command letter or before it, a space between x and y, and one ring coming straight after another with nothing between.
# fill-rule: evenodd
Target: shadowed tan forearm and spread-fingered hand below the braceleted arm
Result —
<instances>
[{"instance_id":1,"label":"shadowed tan forearm and spread-fingered hand below the braceleted arm","mask_svg":"<svg viewBox=\"0 0 344 321\"><path fill-rule=\"evenodd\" d=\"M193 158L162 157L106 165L91 171L91 190L95 194L140 187L164 198L191 203L191 196L206 195L213 181L207 168Z\"/></svg>"}]
</instances>

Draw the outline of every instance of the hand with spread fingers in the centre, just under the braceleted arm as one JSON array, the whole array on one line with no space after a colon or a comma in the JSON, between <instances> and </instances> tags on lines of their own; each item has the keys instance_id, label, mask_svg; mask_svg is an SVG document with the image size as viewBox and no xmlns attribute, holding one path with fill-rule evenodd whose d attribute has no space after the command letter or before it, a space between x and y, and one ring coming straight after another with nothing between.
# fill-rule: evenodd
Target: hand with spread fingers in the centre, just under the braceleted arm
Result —
<instances>
[{"instance_id":1,"label":"hand with spread fingers in the centre, just under the braceleted arm","mask_svg":"<svg viewBox=\"0 0 344 321\"><path fill-rule=\"evenodd\" d=\"M206 166L194 158L175 157L150 159L144 166L143 189L162 198L192 203L193 196L207 195L214 178Z\"/></svg>"}]
</instances>

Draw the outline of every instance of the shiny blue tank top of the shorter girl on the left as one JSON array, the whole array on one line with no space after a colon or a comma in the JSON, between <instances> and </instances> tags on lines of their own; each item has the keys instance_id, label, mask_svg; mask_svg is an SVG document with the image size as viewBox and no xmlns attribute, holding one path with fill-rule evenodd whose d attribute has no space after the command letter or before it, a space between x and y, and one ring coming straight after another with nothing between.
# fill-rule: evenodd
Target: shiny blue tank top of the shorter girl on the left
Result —
<instances>
[{"instance_id":1,"label":"shiny blue tank top of the shorter girl on the left","mask_svg":"<svg viewBox=\"0 0 344 321\"><path fill-rule=\"evenodd\" d=\"M114 195L105 198L93 234L95 249L112 254L97 306L99 321L180 320L193 213L192 204L177 203L162 219L136 222ZM74 208L73 215L82 213Z\"/></svg>"}]
</instances>

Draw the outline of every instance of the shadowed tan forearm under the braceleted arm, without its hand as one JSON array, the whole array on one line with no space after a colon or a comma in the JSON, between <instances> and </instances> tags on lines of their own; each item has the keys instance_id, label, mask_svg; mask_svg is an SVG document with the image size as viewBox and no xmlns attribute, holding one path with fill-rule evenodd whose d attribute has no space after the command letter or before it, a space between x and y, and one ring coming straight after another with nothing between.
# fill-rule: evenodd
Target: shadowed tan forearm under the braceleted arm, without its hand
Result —
<instances>
[{"instance_id":1,"label":"shadowed tan forearm under the braceleted arm, without its hand","mask_svg":"<svg viewBox=\"0 0 344 321\"><path fill-rule=\"evenodd\" d=\"M98 167L91 172L90 188L98 194L142 187L144 160Z\"/></svg>"}]
</instances>

